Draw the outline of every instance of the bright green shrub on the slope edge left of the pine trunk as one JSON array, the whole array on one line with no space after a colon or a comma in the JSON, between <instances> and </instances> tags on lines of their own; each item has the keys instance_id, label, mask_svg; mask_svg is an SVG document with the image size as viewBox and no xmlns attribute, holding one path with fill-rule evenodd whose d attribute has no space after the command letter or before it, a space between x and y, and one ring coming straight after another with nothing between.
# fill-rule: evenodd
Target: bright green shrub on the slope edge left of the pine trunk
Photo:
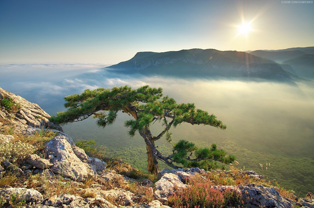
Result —
<instances>
[{"instance_id":1,"label":"bright green shrub on the slope edge left of the pine trunk","mask_svg":"<svg viewBox=\"0 0 314 208\"><path fill-rule=\"evenodd\" d=\"M81 140L75 143L76 146L82 148L88 156L97 157L100 160L104 160L105 146L97 145L95 140Z\"/></svg>"}]
</instances>

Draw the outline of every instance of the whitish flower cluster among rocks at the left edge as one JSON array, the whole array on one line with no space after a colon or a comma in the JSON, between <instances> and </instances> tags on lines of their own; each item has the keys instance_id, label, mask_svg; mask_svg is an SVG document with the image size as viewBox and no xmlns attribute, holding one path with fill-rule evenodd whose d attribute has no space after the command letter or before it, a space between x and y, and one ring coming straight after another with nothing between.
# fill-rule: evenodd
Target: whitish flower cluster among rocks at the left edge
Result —
<instances>
[{"instance_id":1,"label":"whitish flower cluster among rocks at the left edge","mask_svg":"<svg viewBox=\"0 0 314 208\"><path fill-rule=\"evenodd\" d=\"M16 162L17 160L23 160L34 152L35 147L33 145L21 141L14 143L3 142L0 144L0 161L8 160L10 162Z\"/></svg>"}]
</instances>

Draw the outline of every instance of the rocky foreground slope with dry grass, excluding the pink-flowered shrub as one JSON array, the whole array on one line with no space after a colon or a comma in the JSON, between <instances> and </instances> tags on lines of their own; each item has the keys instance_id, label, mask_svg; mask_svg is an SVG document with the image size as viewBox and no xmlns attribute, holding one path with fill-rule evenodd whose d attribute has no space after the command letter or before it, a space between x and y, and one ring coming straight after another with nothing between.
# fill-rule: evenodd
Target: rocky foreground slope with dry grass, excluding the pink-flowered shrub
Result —
<instances>
[{"instance_id":1,"label":"rocky foreground slope with dry grass, excluding the pink-flowered shrub","mask_svg":"<svg viewBox=\"0 0 314 208\"><path fill-rule=\"evenodd\" d=\"M228 189L241 194L242 207L314 208L313 194L298 199L254 171L164 169L154 178L122 161L101 161L77 147L37 104L0 88L3 99L15 105L8 110L2 102L0 109L2 207L166 208L172 205L169 197L200 177L222 193Z\"/></svg>"}]
</instances>

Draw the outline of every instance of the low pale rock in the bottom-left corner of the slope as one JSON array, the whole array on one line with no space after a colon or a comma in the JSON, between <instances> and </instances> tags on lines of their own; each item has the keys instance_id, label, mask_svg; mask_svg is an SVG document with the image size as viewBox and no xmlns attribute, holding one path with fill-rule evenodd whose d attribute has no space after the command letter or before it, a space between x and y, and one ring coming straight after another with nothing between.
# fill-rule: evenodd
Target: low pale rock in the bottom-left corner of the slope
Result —
<instances>
[{"instance_id":1,"label":"low pale rock in the bottom-left corner of the slope","mask_svg":"<svg viewBox=\"0 0 314 208\"><path fill-rule=\"evenodd\" d=\"M41 203L43 197L41 193L35 189L24 189L24 188L8 188L0 189L0 196L3 196L7 202L12 198L12 195L20 197L25 200L26 203L34 204Z\"/></svg>"}]
</instances>

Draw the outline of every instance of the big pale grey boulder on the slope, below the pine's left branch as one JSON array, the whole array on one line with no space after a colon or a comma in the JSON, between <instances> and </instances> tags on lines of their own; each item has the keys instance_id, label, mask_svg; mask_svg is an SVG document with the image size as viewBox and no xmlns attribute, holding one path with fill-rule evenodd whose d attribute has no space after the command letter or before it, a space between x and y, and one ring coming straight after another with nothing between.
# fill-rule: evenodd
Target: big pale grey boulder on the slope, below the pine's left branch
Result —
<instances>
[{"instance_id":1,"label":"big pale grey boulder on the slope, below the pine's left branch","mask_svg":"<svg viewBox=\"0 0 314 208\"><path fill-rule=\"evenodd\" d=\"M94 175L94 171L74 154L70 143L62 136L47 142L45 151L49 152L51 171L73 180L84 181Z\"/></svg>"}]
</instances>

